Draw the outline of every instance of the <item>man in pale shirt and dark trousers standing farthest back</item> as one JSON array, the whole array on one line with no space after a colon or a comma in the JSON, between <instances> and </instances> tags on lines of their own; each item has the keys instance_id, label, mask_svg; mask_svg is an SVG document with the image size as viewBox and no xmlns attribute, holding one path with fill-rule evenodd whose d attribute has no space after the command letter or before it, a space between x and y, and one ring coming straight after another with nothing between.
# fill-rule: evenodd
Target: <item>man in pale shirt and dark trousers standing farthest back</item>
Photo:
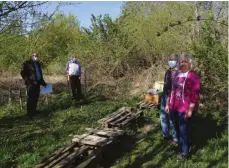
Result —
<instances>
[{"instance_id":1,"label":"man in pale shirt and dark trousers standing farthest back","mask_svg":"<svg viewBox=\"0 0 229 168\"><path fill-rule=\"evenodd\" d=\"M76 56L73 55L72 58L68 61L66 65L66 73L68 81L71 85L72 90L72 99L80 100L82 98L81 93L81 83L80 83L80 77L81 77L81 65L76 60ZM76 94L77 89L77 94Z\"/></svg>"}]
</instances>

